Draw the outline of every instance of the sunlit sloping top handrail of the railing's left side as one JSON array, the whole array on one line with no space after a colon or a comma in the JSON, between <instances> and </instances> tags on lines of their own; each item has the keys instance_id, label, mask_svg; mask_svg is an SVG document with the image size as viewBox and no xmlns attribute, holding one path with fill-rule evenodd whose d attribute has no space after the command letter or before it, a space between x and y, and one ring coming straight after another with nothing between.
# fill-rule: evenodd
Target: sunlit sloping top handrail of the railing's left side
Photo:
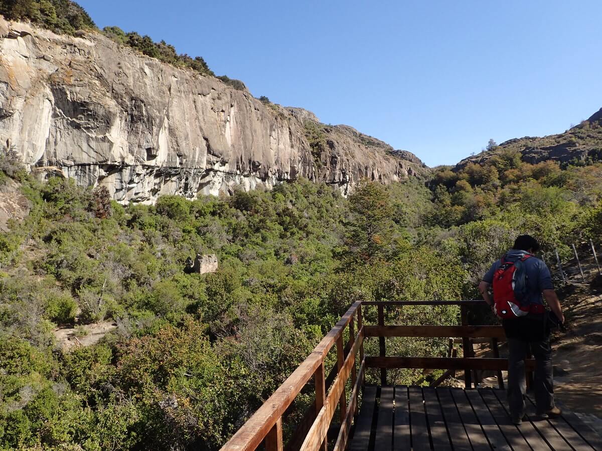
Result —
<instances>
[{"instance_id":1,"label":"sunlit sloping top handrail of the railing's left side","mask_svg":"<svg viewBox=\"0 0 602 451\"><path fill-rule=\"evenodd\" d=\"M311 354L294 370L293 374L288 376L287 380L278 387L274 394L222 447L223 451L251 451L261 444L278 419L293 403L297 394L314 375L317 367L324 361L324 356L343 333L344 327L349 324L360 305L361 301L355 302L347 310L335 327L326 334Z\"/></svg>"}]
</instances>

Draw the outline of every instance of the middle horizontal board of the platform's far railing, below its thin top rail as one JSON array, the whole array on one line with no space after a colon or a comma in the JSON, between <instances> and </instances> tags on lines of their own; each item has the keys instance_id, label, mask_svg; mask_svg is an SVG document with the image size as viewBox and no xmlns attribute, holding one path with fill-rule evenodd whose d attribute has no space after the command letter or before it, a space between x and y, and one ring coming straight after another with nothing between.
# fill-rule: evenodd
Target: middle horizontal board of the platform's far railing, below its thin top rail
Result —
<instances>
[{"instance_id":1,"label":"middle horizontal board of the platform's far railing, below its thin top rail","mask_svg":"<svg viewBox=\"0 0 602 451\"><path fill-rule=\"evenodd\" d=\"M365 326L367 337L475 337L505 339L501 326Z\"/></svg>"}]
</instances>

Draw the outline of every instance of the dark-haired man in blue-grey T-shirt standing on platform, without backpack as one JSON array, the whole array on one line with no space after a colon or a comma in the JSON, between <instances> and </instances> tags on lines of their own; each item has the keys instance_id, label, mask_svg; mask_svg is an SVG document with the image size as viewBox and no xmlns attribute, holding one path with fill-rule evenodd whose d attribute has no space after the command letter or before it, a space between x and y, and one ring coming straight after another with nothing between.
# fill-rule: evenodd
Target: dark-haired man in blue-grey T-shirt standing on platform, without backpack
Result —
<instances>
[{"instance_id":1,"label":"dark-haired man in blue-grey T-shirt standing on platform, without backpack","mask_svg":"<svg viewBox=\"0 0 602 451\"><path fill-rule=\"evenodd\" d=\"M495 291L493 298L489 293L489 288L494 283L494 275L497 274L497 277L501 277L504 268L500 270L500 266L504 263L511 262L516 265L516 262L521 262L523 265L521 271L524 274L525 297L521 301L521 305L527 305L524 308L527 308L529 313L525 316L502 320L509 350L507 399L510 418L512 423L517 426L524 420L524 394L526 392L524 359L529 349L536 361L533 391L535 391L537 413L544 419L560 415L560 409L554 406L550 321L542 302L542 295L548 307L561 323L564 322L564 315L558 296L554 292L550 270L542 260L533 257L538 250L539 244L535 238L529 235L518 236L512 250L491 266L479 284L479 291L483 295L483 299L497 314L494 304ZM512 288L514 288L514 282ZM506 310L503 313L506 313Z\"/></svg>"}]
</instances>

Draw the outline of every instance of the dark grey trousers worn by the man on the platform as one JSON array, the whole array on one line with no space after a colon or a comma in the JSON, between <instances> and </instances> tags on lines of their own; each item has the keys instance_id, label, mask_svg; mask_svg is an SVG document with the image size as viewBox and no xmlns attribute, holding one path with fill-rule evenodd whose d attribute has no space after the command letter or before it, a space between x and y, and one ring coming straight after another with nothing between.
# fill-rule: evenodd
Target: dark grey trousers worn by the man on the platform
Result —
<instances>
[{"instance_id":1,"label":"dark grey trousers worn by the man on the platform","mask_svg":"<svg viewBox=\"0 0 602 451\"><path fill-rule=\"evenodd\" d=\"M518 339L508 339L508 390L507 398L510 416L520 418L524 414L524 394L527 390L525 381L525 356L531 350L535 357L535 378L533 392L537 413L542 414L554 407L554 381L552 377L552 349L550 338L539 342L524 342Z\"/></svg>"}]
</instances>

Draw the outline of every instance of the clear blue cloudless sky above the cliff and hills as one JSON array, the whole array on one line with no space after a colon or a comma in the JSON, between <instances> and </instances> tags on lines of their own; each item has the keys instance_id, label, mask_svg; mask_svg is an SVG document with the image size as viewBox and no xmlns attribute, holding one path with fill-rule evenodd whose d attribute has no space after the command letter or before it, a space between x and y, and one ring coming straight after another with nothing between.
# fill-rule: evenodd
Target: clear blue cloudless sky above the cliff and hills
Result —
<instances>
[{"instance_id":1,"label":"clear blue cloudless sky above the cliff and hills","mask_svg":"<svg viewBox=\"0 0 602 451\"><path fill-rule=\"evenodd\" d=\"M429 166L563 132L602 106L602 1L78 0L251 93Z\"/></svg>"}]
</instances>

